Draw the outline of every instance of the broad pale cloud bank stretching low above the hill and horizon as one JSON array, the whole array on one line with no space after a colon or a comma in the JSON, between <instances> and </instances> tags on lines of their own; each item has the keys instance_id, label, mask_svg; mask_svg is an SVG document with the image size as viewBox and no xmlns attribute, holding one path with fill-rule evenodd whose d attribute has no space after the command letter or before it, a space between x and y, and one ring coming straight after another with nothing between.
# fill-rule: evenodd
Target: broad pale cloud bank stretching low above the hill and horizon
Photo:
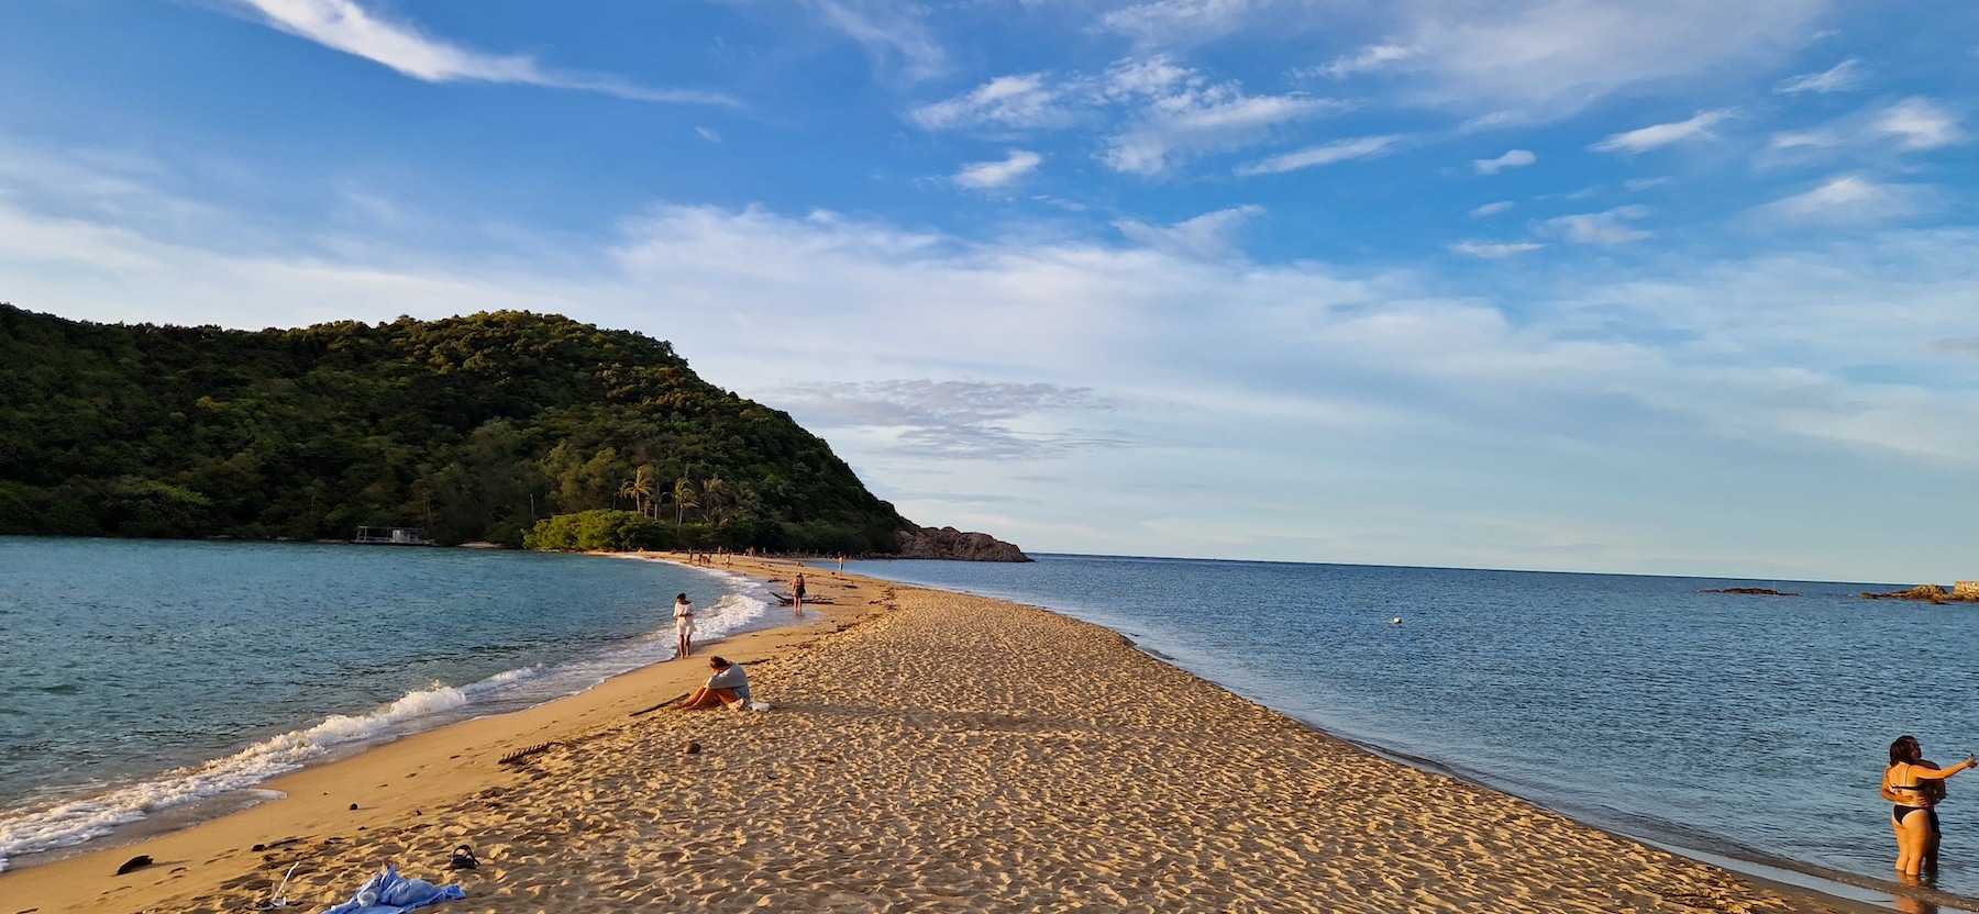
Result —
<instances>
[{"instance_id":1,"label":"broad pale cloud bank stretching low above the hill and horizon","mask_svg":"<svg viewBox=\"0 0 1979 914\"><path fill-rule=\"evenodd\" d=\"M49 214L24 190L46 184L34 178L0 178L0 273L16 305L228 326L505 307L637 328L772 406L819 378L853 384L794 406L865 415L835 427L831 447L883 497L1027 499L991 530L1035 550L1698 570L1676 556L1854 580L1928 580L1967 558L1955 512L1821 520L1979 473L1979 360L1908 372L1932 340L1973 336L1969 228L1439 275L655 206L598 243L467 255L418 235L299 253L307 239L269 241L251 222L139 229L87 200ZM1231 222L1211 220L1225 239ZM1459 251L1492 251L1474 245ZM803 334L764 332L800 320ZM1870 384L1862 368L1890 372ZM1110 408L1081 408L1086 396ZM1086 427L1094 413L1106 427ZM1205 475L1211 463L1221 471ZM1613 485L1617 467L1629 487ZM900 506L960 522L954 504ZM1508 524L1607 546L1520 532L1512 548ZM1805 530L1823 536L1769 546Z\"/></svg>"}]
</instances>

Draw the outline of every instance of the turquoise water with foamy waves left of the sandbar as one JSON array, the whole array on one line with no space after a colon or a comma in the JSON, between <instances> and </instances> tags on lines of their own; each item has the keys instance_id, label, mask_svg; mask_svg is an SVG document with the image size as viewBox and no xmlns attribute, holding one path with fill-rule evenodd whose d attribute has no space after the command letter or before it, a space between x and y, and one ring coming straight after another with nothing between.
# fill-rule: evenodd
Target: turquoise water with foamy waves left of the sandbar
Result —
<instances>
[{"instance_id":1,"label":"turquoise water with foamy waves left of the sandbar","mask_svg":"<svg viewBox=\"0 0 1979 914\"><path fill-rule=\"evenodd\" d=\"M0 536L0 868L788 613L663 562ZM142 825L141 825L142 823Z\"/></svg>"}]
</instances>

